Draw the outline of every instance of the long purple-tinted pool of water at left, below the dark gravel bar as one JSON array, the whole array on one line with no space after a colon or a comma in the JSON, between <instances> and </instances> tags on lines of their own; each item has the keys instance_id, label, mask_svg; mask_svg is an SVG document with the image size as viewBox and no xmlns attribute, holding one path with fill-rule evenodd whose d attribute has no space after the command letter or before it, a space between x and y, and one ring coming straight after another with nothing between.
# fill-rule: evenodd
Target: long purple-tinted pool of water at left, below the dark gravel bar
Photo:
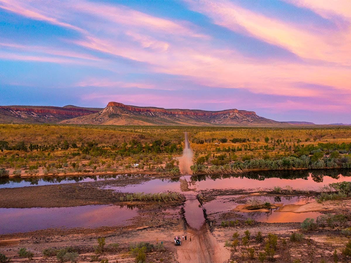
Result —
<instances>
[{"instance_id":1,"label":"long purple-tinted pool of water at left, below the dark gravel bar","mask_svg":"<svg viewBox=\"0 0 351 263\"><path fill-rule=\"evenodd\" d=\"M0 208L0 234L47 228L97 228L127 225L137 208L117 205L84 205L55 208Z\"/></svg>"}]
</instances>

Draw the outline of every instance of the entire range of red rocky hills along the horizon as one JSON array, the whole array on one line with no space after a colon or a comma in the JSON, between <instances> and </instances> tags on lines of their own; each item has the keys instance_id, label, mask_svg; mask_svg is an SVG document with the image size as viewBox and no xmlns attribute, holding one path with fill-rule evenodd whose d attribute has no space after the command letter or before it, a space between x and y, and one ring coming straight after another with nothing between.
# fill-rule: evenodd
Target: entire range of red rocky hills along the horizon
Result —
<instances>
[{"instance_id":1,"label":"entire range of red rocky hills along the horizon","mask_svg":"<svg viewBox=\"0 0 351 263\"><path fill-rule=\"evenodd\" d=\"M220 111L139 107L109 102L106 108L73 105L0 106L0 123L64 123L104 125L223 125L223 126L294 126L313 122L278 122L238 109ZM350 125L333 123L330 125Z\"/></svg>"}]
</instances>

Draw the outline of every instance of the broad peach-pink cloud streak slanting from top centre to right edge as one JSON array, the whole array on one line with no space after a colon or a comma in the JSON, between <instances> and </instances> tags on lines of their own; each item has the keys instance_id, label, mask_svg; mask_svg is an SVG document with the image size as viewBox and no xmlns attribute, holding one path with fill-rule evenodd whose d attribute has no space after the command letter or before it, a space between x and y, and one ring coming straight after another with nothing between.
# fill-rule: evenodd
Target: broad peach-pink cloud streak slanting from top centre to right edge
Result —
<instances>
[{"instance_id":1,"label":"broad peach-pink cloud streak slanting from top centre to right edge","mask_svg":"<svg viewBox=\"0 0 351 263\"><path fill-rule=\"evenodd\" d=\"M306 31L305 28L241 8L229 1L204 0L188 3L193 10L206 14L217 25L281 46L302 58L351 65L350 29L345 33L325 30L323 34L316 34ZM335 41L331 41L331 35L338 38L337 48Z\"/></svg>"}]
</instances>

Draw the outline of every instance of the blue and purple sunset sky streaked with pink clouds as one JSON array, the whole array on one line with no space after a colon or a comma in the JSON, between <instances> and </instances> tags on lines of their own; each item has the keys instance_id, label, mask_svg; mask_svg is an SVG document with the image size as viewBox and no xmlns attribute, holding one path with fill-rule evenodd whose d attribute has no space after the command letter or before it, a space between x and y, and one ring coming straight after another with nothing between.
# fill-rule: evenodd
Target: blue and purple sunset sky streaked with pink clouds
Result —
<instances>
[{"instance_id":1,"label":"blue and purple sunset sky streaked with pink clouds","mask_svg":"<svg viewBox=\"0 0 351 263\"><path fill-rule=\"evenodd\" d=\"M351 123L351 1L0 0L0 105Z\"/></svg>"}]
</instances>

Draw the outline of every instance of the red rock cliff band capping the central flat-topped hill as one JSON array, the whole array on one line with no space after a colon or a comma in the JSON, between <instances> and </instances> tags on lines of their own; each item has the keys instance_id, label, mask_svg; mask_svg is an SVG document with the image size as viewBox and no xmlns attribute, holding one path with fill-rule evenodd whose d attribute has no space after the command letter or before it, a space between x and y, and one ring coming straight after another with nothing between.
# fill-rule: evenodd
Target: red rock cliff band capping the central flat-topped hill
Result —
<instances>
[{"instance_id":1,"label":"red rock cliff band capping the central flat-topped hill","mask_svg":"<svg viewBox=\"0 0 351 263\"><path fill-rule=\"evenodd\" d=\"M237 109L228 109L220 111L208 111L208 110L190 110L190 109L164 109L156 107L138 107L125 105L120 102L108 102L107 107L120 107L132 112L159 112L166 114L178 114L178 115L195 115L195 116L215 116L220 114L229 114L229 113L239 113L243 115L256 115L255 112L249 112L246 110L237 110Z\"/></svg>"}]
</instances>

